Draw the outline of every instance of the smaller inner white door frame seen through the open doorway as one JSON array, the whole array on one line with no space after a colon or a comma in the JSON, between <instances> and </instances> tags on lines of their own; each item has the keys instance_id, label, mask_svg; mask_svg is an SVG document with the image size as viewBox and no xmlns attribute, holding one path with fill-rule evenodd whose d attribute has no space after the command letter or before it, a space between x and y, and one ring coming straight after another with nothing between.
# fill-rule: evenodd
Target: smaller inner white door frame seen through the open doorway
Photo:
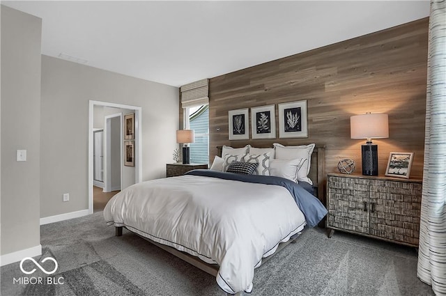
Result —
<instances>
[{"instance_id":1,"label":"smaller inner white door frame seen through the open doorway","mask_svg":"<svg viewBox=\"0 0 446 296\"><path fill-rule=\"evenodd\" d=\"M112 118L119 118L119 130L121 145L119 146L119 170L121 174L121 184L119 185L119 190L123 187L123 114L116 113L112 115L105 116L104 119L104 192L111 192L112 190L116 190L112 188L112 166L109 164L112 163L112 145L111 145L111 137L110 134L112 132Z\"/></svg>"}]
</instances>

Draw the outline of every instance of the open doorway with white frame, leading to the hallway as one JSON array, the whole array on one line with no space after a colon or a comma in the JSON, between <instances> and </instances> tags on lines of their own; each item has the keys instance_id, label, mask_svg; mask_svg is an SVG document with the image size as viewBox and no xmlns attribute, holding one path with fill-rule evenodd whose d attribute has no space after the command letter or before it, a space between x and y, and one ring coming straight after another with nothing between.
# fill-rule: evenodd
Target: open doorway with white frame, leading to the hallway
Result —
<instances>
[{"instance_id":1,"label":"open doorway with white frame, leading to the hallway","mask_svg":"<svg viewBox=\"0 0 446 296\"><path fill-rule=\"evenodd\" d=\"M125 166L123 170L123 113L102 114L103 124L103 186L102 188L95 182L94 155L95 155L95 135L94 130L99 130L101 116L98 116L97 109L125 110L134 113L134 167ZM95 111L96 109L96 111ZM115 111L116 112L116 111ZM96 114L96 116L95 116ZM95 126L96 125L96 126ZM117 131L117 132L116 132ZM105 207L107 201L119 190L137 182L141 182L141 107L115 104L109 102L90 101L89 104L89 214L97 212ZM99 137L99 136L96 136ZM129 171L131 169L131 171ZM123 173L125 171L125 173ZM123 176L126 175L126 176ZM129 181L130 180L130 181Z\"/></svg>"}]
</instances>

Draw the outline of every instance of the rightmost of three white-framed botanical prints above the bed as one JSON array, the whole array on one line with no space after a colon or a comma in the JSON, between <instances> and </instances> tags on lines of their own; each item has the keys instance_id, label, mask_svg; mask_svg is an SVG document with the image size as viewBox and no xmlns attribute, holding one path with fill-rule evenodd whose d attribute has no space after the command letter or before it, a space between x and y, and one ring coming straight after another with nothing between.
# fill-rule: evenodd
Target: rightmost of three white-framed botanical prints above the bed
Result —
<instances>
[{"instance_id":1,"label":"rightmost of three white-framed botanical prints above the bed","mask_svg":"<svg viewBox=\"0 0 446 296\"><path fill-rule=\"evenodd\" d=\"M279 138L307 137L307 100L279 104Z\"/></svg>"}]
</instances>

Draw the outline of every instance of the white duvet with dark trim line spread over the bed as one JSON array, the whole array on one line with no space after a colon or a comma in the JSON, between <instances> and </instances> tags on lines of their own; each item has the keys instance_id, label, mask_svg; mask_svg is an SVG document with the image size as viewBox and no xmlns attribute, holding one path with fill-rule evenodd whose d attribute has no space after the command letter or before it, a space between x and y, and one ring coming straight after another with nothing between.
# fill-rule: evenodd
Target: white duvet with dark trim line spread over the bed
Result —
<instances>
[{"instance_id":1,"label":"white duvet with dark trim line spread over the bed","mask_svg":"<svg viewBox=\"0 0 446 296\"><path fill-rule=\"evenodd\" d=\"M109 225L217 263L217 283L227 293L250 292L261 258L305 226L284 187L203 176L132 185L107 203L104 217Z\"/></svg>"}]
</instances>

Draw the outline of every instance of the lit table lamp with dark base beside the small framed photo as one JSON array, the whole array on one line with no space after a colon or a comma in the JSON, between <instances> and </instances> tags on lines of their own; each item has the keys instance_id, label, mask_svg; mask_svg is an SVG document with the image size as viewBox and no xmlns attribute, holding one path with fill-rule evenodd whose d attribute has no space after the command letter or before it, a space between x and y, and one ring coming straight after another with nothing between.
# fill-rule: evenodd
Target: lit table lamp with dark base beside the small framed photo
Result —
<instances>
[{"instance_id":1,"label":"lit table lamp with dark base beside the small framed photo","mask_svg":"<svg viewBox=\"0 0 446 296\"><path fill-rule=\"evenodd\" d=\"M389 137L389 116L387 114L371 114L367 112L350 118L351 139L367 139L362 145L362 175L378 176L378 145L371 139Z\"/></svg>"}]
</instances>

